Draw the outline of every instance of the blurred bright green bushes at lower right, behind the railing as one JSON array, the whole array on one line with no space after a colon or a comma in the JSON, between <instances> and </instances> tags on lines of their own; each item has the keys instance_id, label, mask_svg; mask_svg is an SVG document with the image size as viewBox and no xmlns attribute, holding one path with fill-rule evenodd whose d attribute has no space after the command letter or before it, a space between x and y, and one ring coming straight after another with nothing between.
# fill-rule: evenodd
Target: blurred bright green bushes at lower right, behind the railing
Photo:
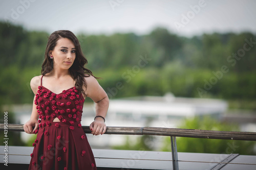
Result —
<instances>
[{"instance_id":1,"label":"blurred bright green bushes at lower right, behind the railing","mask_svg":"<svg viewBox=\"0 0 256 170\"><path fill-rule=\"evenodd\" d=\"M185 119L179 128L215 131L239 131L236 125L227 125L209 116ZM177 138L178 152L255 155L255 141ZM164 140L162 151L170 151L170 138Z\"/></svg>"}]
</instances>

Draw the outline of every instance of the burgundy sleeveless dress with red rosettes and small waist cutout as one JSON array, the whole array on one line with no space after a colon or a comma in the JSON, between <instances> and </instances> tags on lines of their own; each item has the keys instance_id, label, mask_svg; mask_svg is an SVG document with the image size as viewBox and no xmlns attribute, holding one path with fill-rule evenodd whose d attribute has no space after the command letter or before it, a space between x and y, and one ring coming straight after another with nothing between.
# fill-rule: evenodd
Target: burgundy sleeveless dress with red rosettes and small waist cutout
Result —
<instances>
[{"instance_id":1,"label":"burgundy sleeveless dress with red rosettes and small waist cutout","mask_svg":"<svg viewBox=\"0 0 256 170\"><path fill-rule=\"evenodd\" d=\"M42 76L44 77L44 76ZM59 94L38 86L35 105L39 129L35 131L29 169L96 169L87 136L81 128L83 96L75 87ZM60 122L53 122L57 117Z\"/></svg>"}]
</instances>

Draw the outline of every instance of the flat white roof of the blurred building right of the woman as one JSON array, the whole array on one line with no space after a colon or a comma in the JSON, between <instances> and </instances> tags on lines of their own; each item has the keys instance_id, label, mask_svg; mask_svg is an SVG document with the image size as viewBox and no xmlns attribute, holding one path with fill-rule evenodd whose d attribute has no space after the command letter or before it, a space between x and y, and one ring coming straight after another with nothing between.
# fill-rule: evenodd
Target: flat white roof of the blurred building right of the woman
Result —
<instances>
[{"instance_id":1,"label":"flat white roof of the blurred building right of the woman","mask_svg":"<svg viewBox=\"0 0 256 170\"><path fill-rule=\"evenodd\" d=\"M109 111L147 115L195 116L224 113L227 103L216 99L176 98L165 96L137 96L111 100Z\"/></svg>"}]
</instances>

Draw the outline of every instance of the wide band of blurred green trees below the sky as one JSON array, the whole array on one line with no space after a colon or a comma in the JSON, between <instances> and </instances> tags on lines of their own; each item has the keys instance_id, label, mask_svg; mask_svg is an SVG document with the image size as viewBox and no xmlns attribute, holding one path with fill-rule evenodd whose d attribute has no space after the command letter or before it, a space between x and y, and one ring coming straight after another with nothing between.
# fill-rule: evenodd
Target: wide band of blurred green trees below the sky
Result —
<instances>
[{"instance_id":1,"label":"wide band of blurred green trees below the sky","mask_svg":"<svg viewBox=\"0 0 256 170\"><path fill-rule=\"evenodd\" d=\"M2 104L33 100L30 80L40 75L48 36L47 32L27 31L15 25L7 27L5 22L0 22ZM77 37L89 61L87 67L103 78L99 82L108 94L113 94L111 99L172 92L189 98L255 100L256 38L249 32L186 38L156 28L141 36L79 33ZM249 41L252 43L248 44ZM244 44L249 50L239 57ZM226 72L221 72L223 66ZM123 88L114 93L118 82ZM208 89L207 83L211 86Z\"/></svg>"}]
</instances>

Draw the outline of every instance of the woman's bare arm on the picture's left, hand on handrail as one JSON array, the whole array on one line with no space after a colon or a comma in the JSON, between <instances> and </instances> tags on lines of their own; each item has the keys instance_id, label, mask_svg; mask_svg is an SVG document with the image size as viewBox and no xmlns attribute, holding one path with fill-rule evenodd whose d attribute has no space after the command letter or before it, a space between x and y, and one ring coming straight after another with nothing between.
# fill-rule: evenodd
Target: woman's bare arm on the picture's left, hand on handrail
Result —
<instances>
[{"instance_id":1,"label":"woman's bare arm on the picture's left, hand on handrail","mask_svg":"<svg viewBox=\"0 0 256 170\"><path fill-rule=\"evenodd\" d=\"M34 94L37 93L37 87L40 85L39 83L40 83L39 76L36 76L31 79L30 87L31 87L32 91L34 92ZM34 133L35 130L39 126L39 124L38 124L39 115L37 113L37 109L36 109L36 105L35 105L34 101L35 101L35 96L34 96L34 100L33 100L33 108L32 108L32 113L31 113L30 119L23 126L24 131L28 134Z\"/></svg>"}]
</instances>

